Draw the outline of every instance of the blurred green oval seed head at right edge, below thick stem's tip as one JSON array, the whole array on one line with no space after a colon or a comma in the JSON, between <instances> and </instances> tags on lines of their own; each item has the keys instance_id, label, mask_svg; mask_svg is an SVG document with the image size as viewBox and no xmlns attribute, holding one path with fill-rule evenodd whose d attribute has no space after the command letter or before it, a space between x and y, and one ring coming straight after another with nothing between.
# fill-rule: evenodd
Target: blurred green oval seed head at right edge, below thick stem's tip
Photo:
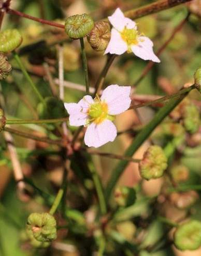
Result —
<instances>
[{"instance_id":1,"label":"blurred green oval seed head at right edge, below thick stem's tip","mask_svg":"<svg viewBox=\"0 0 201 256\"><path fill-rule=\"evenodd\" d=\"M183 125L186 131L195 133L200 125L199 111L194 104L188 104L183 109Z\"/></svg>"}]
</instances>

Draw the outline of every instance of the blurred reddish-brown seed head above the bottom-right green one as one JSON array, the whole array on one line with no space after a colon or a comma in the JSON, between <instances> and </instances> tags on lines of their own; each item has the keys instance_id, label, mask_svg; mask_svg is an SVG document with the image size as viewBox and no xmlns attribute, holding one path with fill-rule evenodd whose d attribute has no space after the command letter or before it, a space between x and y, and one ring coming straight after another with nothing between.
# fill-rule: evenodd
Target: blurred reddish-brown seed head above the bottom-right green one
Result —
<instances>
[{"instance_id":1,"label":"blurred reddish-brown seed head above the bottom-right green one","mask_svg":"<svg viewBox=\"0 0 201 256\"><path fill-rule=\"evenodd\" d=\"M189 190L182 193L171 193L169 199L177 208L183 210L188 209L198 200L199 196L194 190Z\"/></svg>"}]
</instances>

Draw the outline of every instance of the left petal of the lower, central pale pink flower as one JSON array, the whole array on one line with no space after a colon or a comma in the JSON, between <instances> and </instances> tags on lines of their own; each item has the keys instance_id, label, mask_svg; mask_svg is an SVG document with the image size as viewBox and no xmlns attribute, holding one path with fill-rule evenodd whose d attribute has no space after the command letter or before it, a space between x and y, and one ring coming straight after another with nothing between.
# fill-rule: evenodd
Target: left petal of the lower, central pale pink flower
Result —
<instances>
[{"instance_id":1,"label":"left petal of the lower, central pale pink flower","mask_svg":"<svg viewBox=\"0 0 201 256\"><path fill-rule=\"evenodd\" d=\"M81 112L81 107L76 103L64 103L64 107L68 111L69 123L71 126L84 125L87 122L88 115Z\"/></svg>"}]
</instances>

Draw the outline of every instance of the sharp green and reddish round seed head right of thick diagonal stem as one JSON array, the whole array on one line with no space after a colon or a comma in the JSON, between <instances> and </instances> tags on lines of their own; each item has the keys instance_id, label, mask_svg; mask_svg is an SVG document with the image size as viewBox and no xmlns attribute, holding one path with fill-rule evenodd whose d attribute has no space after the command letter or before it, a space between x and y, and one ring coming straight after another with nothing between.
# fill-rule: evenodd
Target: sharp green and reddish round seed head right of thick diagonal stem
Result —
<instances>
[{"instance_id":1,"label":"sharp green and reddish round seed head right of thick diagonal stem","mask_svg":"<svg viewBox=\"0 0 201 256\"><path fill-rule=\"evenodd\" d=\"M150 180L159 178L167 168L167 158L160 146L150 146L139 163L139 172L142 178Z\"/></svg>"}]
</instances>

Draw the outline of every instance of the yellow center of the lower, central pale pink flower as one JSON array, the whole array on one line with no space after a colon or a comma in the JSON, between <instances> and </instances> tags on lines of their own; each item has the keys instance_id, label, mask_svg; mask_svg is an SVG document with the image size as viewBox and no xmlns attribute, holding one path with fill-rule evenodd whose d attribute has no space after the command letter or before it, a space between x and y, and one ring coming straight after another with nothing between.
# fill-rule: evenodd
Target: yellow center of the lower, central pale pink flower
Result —
<instances>
[{"instance_id":1,"label":"yellow center of the lower, central pale pink flower","mask_svg":"<svg viewBox=\"0 0 201 256\"><path fill-rule=\"evenodd\" d=\"M94 103L91 104L88 113L92 118L89 121L94 121L95 124L102 123L108 116L108 105L105 100L102 102L101 99L96 95Z\"/></svg>"}]
</instances>

